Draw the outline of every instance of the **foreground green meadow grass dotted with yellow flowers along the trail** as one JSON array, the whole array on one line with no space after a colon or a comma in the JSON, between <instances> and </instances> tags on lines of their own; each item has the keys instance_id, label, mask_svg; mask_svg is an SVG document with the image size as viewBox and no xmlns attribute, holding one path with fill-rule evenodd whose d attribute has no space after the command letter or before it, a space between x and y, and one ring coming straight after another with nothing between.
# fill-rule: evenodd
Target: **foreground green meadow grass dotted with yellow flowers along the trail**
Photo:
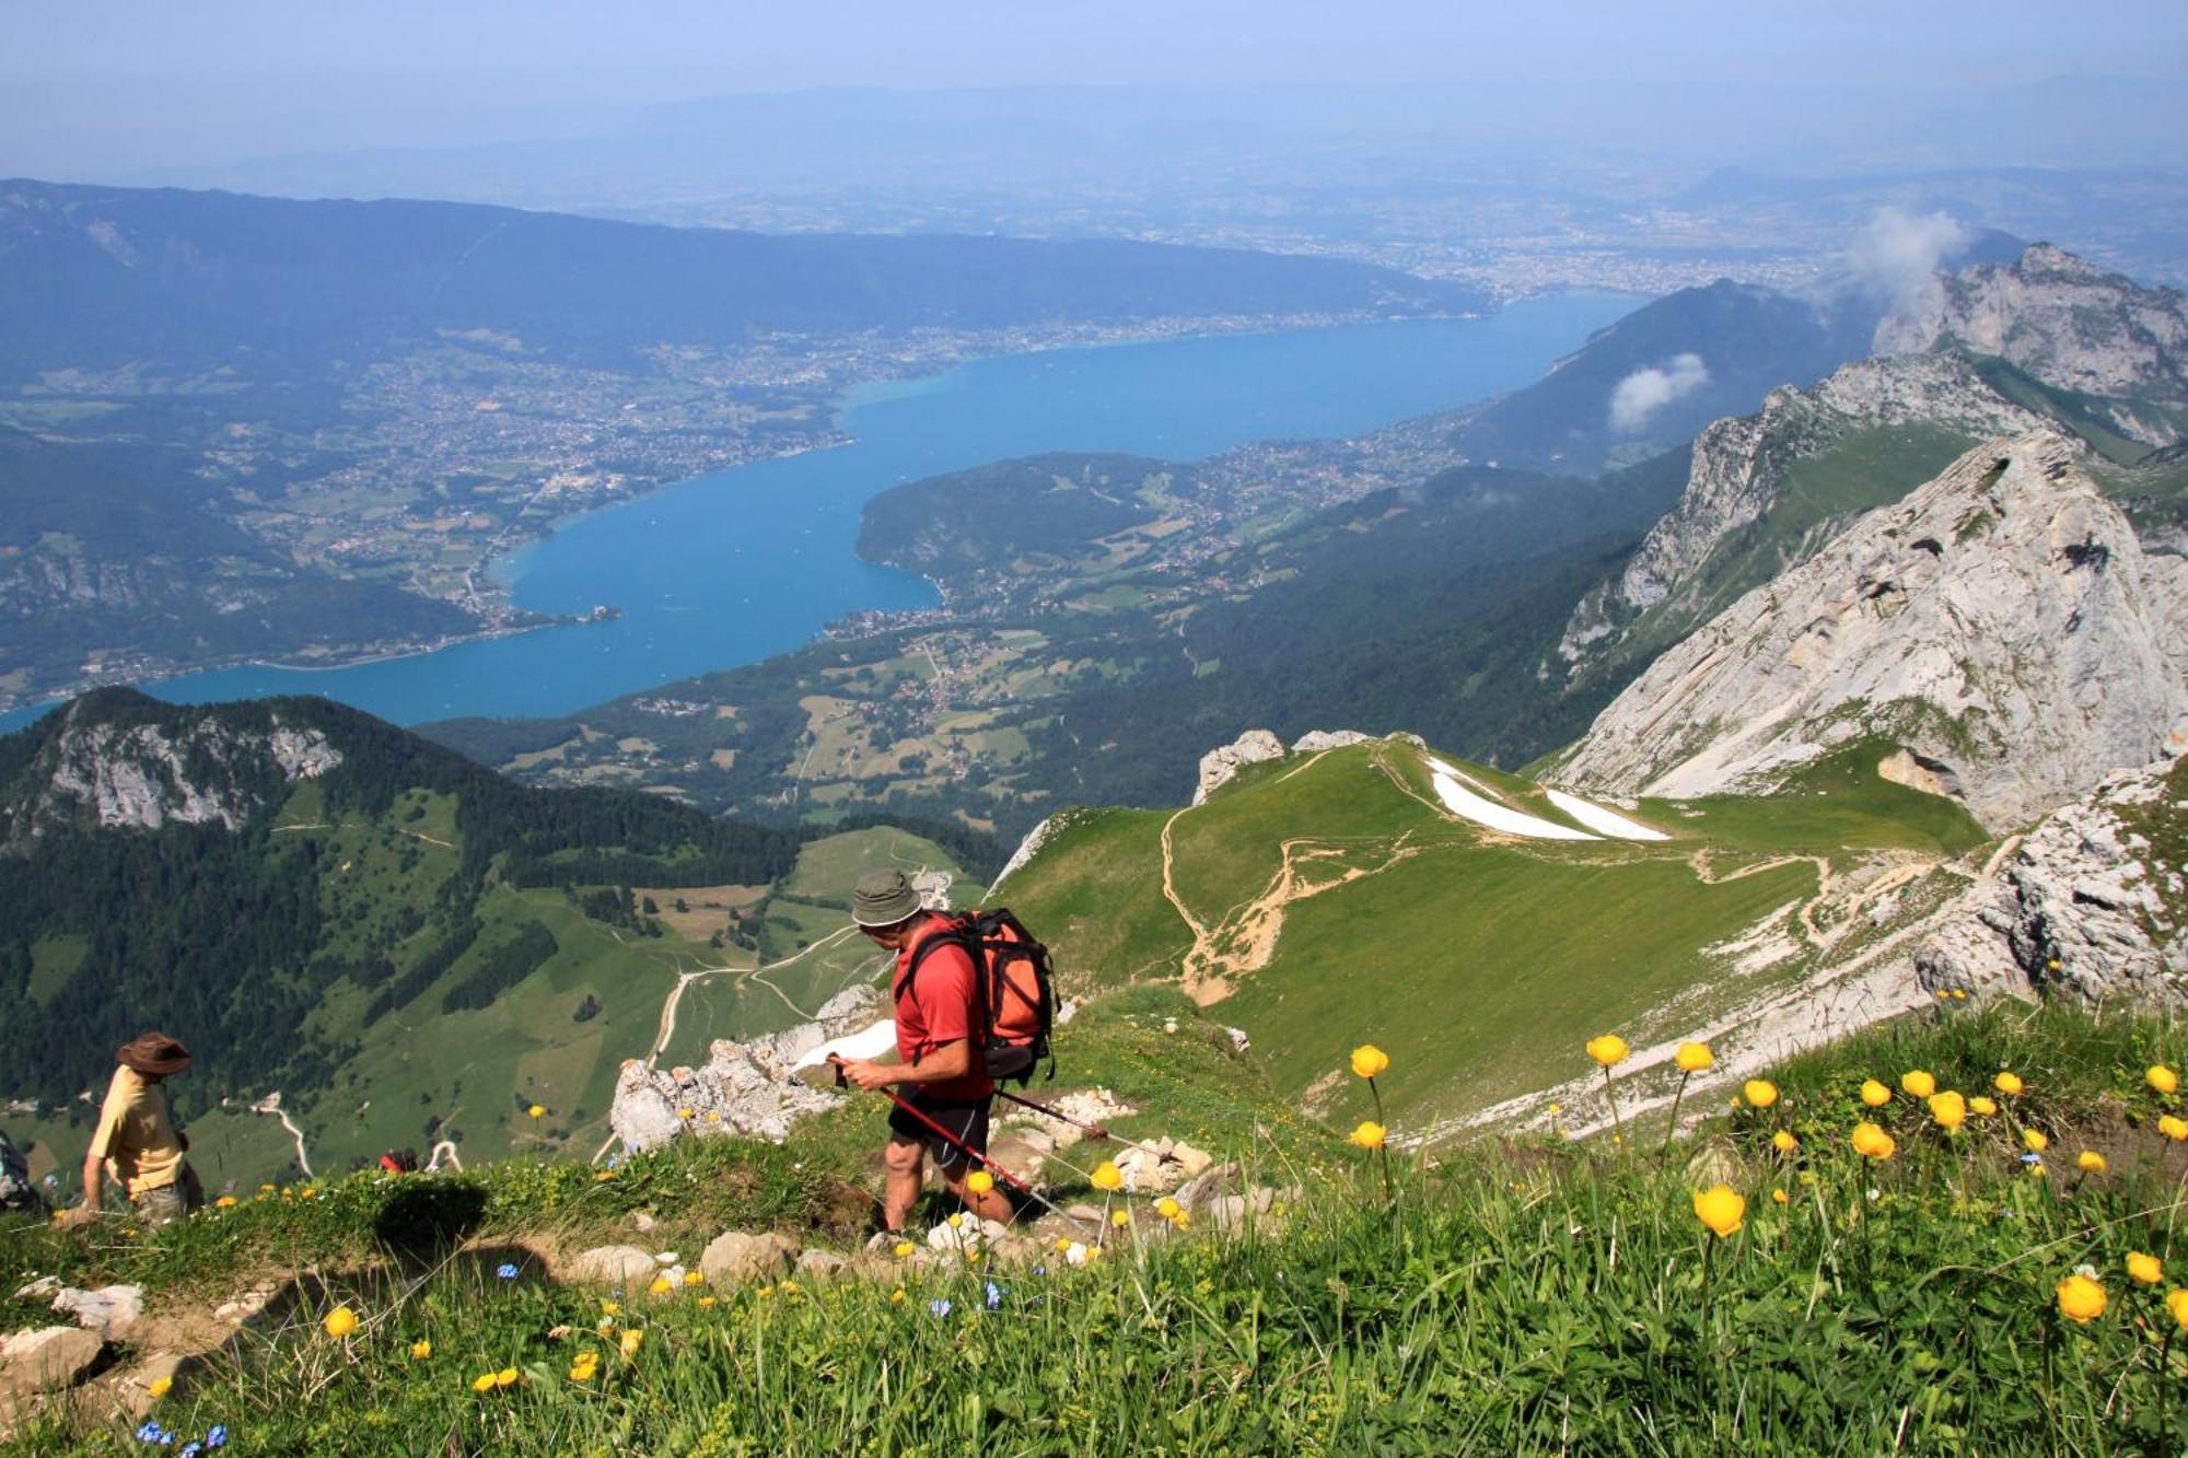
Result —
<instances>
[{"instance_id":1,"label":"foreground green meadow grass dotted with yellow flowers along the trail","mask_svg":"<svg viewBox=\"0 0 2188 1458\"><path fill-rule=\"evenodd\" d=\"M1151 1053L1157 1011L1120 1011L1098 1038ZM1262 1147L1269 1178L1302 1184L1276 1228L1179 1239L1140 1208L1133 1235L1149 1239L1120 1237L1087 1268L630 1292L606 1335L602 1294L532 1259L543 1222L578 1239L656 1211L650 1239L678 1248L718 1224L840 1241L836 1173L814 1167L829 1145L707 1143L606 1184L567 1165L354 1180L136 1241L18 1228L0 1237L0 1276L210 1294L225 1287L208 1272L304 1272L158 1408L184 1436L228 1425L238 1451L2177 1451L2188 1335L2160 1300L2173 1281L2135 1285L2125 1263L2151 1252L2188 1272L2188 1145L2151 1127L2179 1099L2140 1075L2184 1053L2153 1018L1925 1018L1777 1071L1774 1108L1661 1162L1654 1141L1621 1154L1492 1138L1433 1167L1394 1160L1385 1200L1372 1156L1326 1138L1306 1162ZM1974 1092L2002 1066L2026 1090L1958 1134L1912 1099L1869 1112L1853 1095L1908 1068ZM1858 1116L1893 1132L1888 1160L1851 1152ZM864 1132L831 1123L834 1138ZM1779 1127L1801 1138L1794 1154L1772 1152ZM2020 1160L2024 1127L2052 1136L2046 1178ZM2083 1149L2107 1169L2079 1173ZM1722 1239L1694 1208L1718 1182L1744 1197ZM372 1226L394 1195L427 1208L442 1189L484 1197L473 1246L403 1281ZM503 1259L514 1281L492 1274ZM2085 1324L2055 1298L2076 1268L2107 1294ZM319 1329L337 1303L363 1318L341 1342ZM621 1329L643 1331L630 1357ZM414 1359L420 1340L431 1355ZM600 1370L575 1381L584 1351ZM510 1388L470 1390L503 1368ZM63 1408L18 1449L133 1451L127 1427Z\"/></svg>"}]
</instances>

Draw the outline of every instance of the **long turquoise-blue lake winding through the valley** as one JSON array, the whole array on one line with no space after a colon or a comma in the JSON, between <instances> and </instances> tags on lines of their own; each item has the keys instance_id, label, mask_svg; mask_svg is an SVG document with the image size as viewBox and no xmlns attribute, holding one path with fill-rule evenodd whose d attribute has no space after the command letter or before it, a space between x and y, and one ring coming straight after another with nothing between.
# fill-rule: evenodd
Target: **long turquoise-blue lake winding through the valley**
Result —
<instances>
[{"instance_id":1,"label":"long turquoise-blue lake winding through the valley","mask_svg":"<svg viewBox=\"0 0 2188 1458\"><path fill-rule=\"evenodd\" d=\"M147 685L182 701L326 694L416 725L569 714L753 663L856 609L934 602L928 582L858 560L860 508L899 482L1037 451L1171 460L1247 440L1354 436L1529 383L1628 296L1569 293L1481 320L1361 324L1046 350L853 392L851 444L696 477L573 521L497 565L519 606L624 609L330 670L230 668ZM37 709L0 718L28 722Z\"/></svg>"}]
</instances>

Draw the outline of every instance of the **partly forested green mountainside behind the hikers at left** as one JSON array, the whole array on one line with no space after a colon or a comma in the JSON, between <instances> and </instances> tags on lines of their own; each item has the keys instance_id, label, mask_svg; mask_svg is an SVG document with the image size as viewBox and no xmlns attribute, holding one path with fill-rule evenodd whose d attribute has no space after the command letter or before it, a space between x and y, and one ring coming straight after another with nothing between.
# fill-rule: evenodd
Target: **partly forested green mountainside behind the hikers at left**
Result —
<instances>
[{"instance_id":1,"label":"partly forested green mountainside behind the hikers at left","mask_svg":"<svg viewBox=\"0 0 2188 1458\"><path fill-rule=\"evenodd\" d=\"M0 1097L44 1110L20 1138L79 1147L77 1095L162 1027L197 1051L175 1099L208 1176L293 1160L247 1112L276 1090L315 1169L589 1149L626 1057L702 1055L864 979L871 950L836 935L851 882L963 878L976 841L943 834L958 852L527 790L315 698L94 694L0 740Z\"/></svg>"}]
</instances>

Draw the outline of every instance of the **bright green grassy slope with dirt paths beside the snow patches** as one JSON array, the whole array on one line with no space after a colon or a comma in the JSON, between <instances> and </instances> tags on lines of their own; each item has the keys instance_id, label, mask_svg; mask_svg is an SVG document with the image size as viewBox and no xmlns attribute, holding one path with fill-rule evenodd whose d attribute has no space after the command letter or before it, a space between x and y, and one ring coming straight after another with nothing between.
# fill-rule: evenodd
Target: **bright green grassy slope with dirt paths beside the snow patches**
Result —
<instances>
[{"instance_id":1,"label":"bright green grassy slope with dirt paths beside the snow patches","mask_svg":"<svg viewBox=\"0 0 2188 1458\"><path fill-rule=\"evenodd\" d=\"M1774 998L1912 935L1985 836L1877 757L1772 799L1650 801L1628 814L1669 838L1619 841L1538 838L1586 828L1527 779L1407 740L1293 753L1188 810L1066 812L996 895L1068 983L1182 985L1315 1112L1365 1110L1330 1071L1378 1042L1392 1108L1435 1125L1551 1088L1613 1027L1761 1046ZM1438 779L1532 817L1527 834L1455 814Z\"/></svg>"}]
</instances>

